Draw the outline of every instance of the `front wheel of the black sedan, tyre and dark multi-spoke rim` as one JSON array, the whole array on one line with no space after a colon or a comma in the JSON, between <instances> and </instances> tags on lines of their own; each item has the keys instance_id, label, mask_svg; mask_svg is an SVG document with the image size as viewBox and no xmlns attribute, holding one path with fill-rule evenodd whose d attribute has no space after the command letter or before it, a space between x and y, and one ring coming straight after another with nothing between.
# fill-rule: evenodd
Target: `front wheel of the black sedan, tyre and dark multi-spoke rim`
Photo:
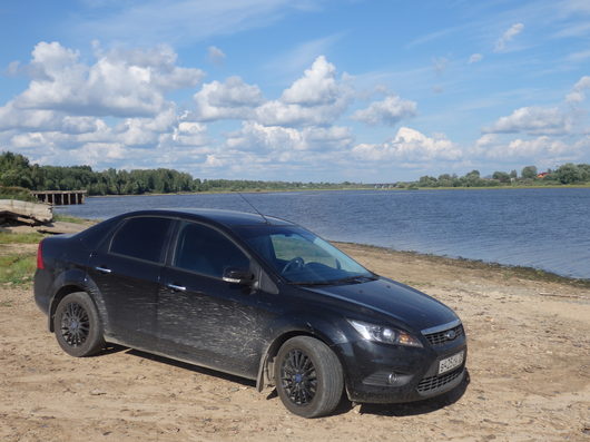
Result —
<instances>
[{"instance_id":1,"label":"front wheel of the black sedan, tyre and dark multi-spoke rim","mask_svg":"<svg viewBox=\"0 0 590 442\"><path fill-rule=\"evenodd\" d=\"M323 342L292 337L278 351L274 369L278 396L292 413L319 418L338 405L344 390L342 365Z\"/></svg>"}]
</instances>

